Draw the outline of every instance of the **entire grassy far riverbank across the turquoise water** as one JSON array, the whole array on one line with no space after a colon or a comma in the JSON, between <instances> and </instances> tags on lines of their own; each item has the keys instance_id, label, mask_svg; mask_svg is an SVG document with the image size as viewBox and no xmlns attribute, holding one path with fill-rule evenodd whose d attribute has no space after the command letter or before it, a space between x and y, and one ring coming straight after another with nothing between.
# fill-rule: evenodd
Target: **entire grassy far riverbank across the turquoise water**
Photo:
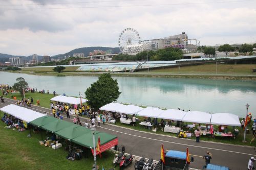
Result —
<instances>
[{"instance_id":1,"label":"entire grassy far riverbank across the turquoise water","mask_svg":"<svg viewBox=\"0 0 256 170\"><path fill-rule=\"evenodd\" d=\"M52 67L31 67L18 71L24 74L39 76L98 76L102 71L76 71L79 66L67 67L63 72L53 72ZM256 64L202 64L173 68L142 70L138 72L110 72L119 77L160 77L160 78L198 78L225 80L256 80L256 72L252 69Z\"/></svg>"}]
</instances>

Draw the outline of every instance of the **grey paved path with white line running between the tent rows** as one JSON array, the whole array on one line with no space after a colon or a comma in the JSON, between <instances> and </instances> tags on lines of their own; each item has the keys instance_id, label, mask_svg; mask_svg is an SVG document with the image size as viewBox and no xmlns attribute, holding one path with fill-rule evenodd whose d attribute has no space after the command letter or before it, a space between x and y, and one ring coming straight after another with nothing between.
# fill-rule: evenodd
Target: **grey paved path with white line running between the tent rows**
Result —
<instances>
[{"instance_id":1,"label":"grey paved path with white line running between the tent rows","mask_svg":"<svg viewBox=\"0 0 256 170\"><path fill-rule=\"evenodd\" d=\"M14 104L13 100L6 99L6 103L1 103L0 107L9 104ZM50 104L49 104L50 107ZM50 109L32 106L32 110L52 115ZM65 115L64 115L65 116ZM71 116L71 118L73 115ZM72 121L72 119L67 119ZM85 122L86 118L81 117L81 122ZM224 143L215 143L201 141L196 143L195 140L181 139L173 136L158 135L153 133L141 132L133 129L123 128L110 124L101 124L101 127L96 127L98 131L117 135L119 145L124 145L127 153L146 158L160 159L160 145L163 143L165 150L177 150L185 152L189 148L189 153L194 155L194 163L190 167L202 168L204 159L202 156L207 151L212 153L211 163L220 164L230 167L231 169L246 169L248 160L251 156L256 157L256 152L253 147L242 145L232 145Z\"/></svg>"}]
</instances>

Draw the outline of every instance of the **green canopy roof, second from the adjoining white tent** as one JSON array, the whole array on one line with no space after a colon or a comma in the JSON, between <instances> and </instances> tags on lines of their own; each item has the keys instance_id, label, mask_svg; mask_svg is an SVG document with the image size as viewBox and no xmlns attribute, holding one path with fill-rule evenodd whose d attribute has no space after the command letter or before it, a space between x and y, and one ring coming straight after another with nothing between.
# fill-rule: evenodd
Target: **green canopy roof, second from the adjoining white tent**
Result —
<instances>
[{"instance_id":1,"label":"green canopy roof, second from the adjoining white tent","mask_svg":"<svg viewBox=\"0 0 256 170\"><path fill-rule=\"evenodd\" d=\"M54 133L61 129L71 127L73 125L74 125L73 123L70 123L70 122L67 122L67 121L64 121L61 119L57 119L57 121L46 124L46 125L42 126L41 128Z\"/></svg>"}]
</instances>

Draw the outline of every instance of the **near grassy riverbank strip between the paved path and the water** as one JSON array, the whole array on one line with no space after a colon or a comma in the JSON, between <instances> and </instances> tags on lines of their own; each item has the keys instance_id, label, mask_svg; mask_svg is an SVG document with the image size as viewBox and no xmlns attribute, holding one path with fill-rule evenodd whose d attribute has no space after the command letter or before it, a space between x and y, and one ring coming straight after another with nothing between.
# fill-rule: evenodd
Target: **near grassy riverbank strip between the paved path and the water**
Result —
<instances>
[{"instance_id":1,"label":"near grassy riverbank strip between the paved path and the water","mask_svg":"<svg viewBox=\"0 0 256 170\"><path fill-rule=\"evenodd\" d=\"M5 97L11 99L12 95L13 94L8 94ZM22 98L22 95L20 95L19 93L16 93L15 95L16 95L17 99L21 99ZM34 99L34 103L35 103L35 101L37 99L39 99L41 107L50 108L50 99L53 97L53 94L41 94L41 93L38 93L38 92L35 92L35 93L28 92L28 93L26 93L26 98L31 98L31 96ZM49 112L51 113L50 110L49 110ZM66 116L66 115L64 114L63 116ZM139 116L138 116L138 118L140 120L144 119L144 117L139 117ZM81 117L81 121L83 121L82 119L87 119L87 117L86 116L82 116ZM188 123L188 124L191 124L191 123ZM136 125L135 127L133 127L131 125L122 124L119 121L117 122L116 125L119 126L119 127L130 128L130 129L133 129L133 130L143 131L143 132L147 132L147 133L156 133L156 134L161 134L161 135L177 137L177 134L163 132L163 131L160 130L160 128L156 132L152 132L152 130L145 129L144 126L142 126L142 125ZM215 126L215 128L217 128L217 126ZM250 125L250 127L248 129L250 129L250 128L251 128L251 125ZM232 127L228 127L228 129L229 129L229 131L232 131ZM240 133L241 133L241 131L239 129L239 135L237 136L236 139L232 138L232 139L229 140L229 138L223 138L223 137L212 138L212 137L209 137L209 136L203 136L202 135L200 140L211 141L211 142L229 143L229 144L239 144L239 145L250 145L250 146L256 145L256 140L254 140L251 144L249 142L247 142L247 143L242 142L243 135L241 136ZM243 134L243 131L242 131L242 134ZM246 135L246 140L247 141L250 141L251 138L252 138L252 134L251 133ZM194 136L191 137L191 139L196 140L196 138Z\"/></svg>"}]
</instances>

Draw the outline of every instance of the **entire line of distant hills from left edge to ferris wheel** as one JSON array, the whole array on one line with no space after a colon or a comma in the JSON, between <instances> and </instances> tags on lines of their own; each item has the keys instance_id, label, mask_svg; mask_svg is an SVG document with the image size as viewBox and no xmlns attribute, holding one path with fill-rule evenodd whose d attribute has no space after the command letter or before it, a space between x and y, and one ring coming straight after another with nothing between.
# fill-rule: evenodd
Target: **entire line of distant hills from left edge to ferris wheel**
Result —
<instances>
[{"instance_id":1,"label":"entire line of distant hills from left edge to ferris wheel","mask_svg":"<svg viewBox=\"0 0 256 170\"><path fill-rule=\"evenodd\" d=\"M82 48L76 48L75 50L72 50L68 53L65 54L58 54L55 56L52 56L51 58L54 59L63 59L65 56L70 56L73 57L73 54L75 53L83 53L84 56L89 56L90 52L93 52L94 50L102 50L102 51L107 51L107 50L112 50L112 54L118 54L120 52L119 47L103 47L103 46L91 46L91 47L82 47ZM31 56L13 56L9 54L2 54L0 53L0 62L4 63L9 61L9 58L12 57L21 57L24 58L25 61L32 60L32 55ZM42 56L37 55L38 61L42 60Z\"/></svg>"}]
</instances>

